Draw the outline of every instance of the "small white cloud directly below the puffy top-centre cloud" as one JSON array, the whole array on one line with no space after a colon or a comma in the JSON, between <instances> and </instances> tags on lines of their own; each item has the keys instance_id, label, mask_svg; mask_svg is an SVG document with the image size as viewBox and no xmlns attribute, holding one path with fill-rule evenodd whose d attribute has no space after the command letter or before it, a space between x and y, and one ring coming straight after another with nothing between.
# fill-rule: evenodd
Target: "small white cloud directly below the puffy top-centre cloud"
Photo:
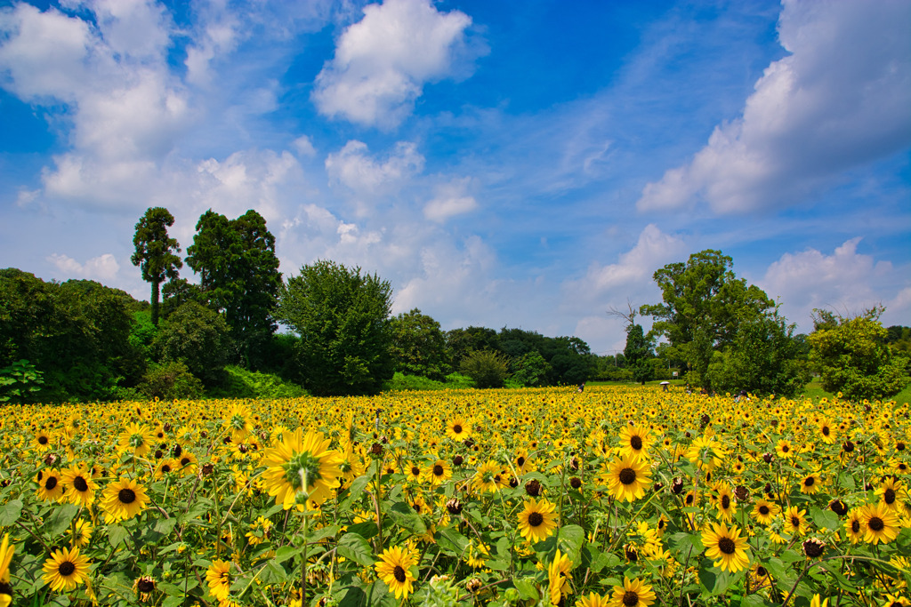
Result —
<instances>
[{"instance_id":1,"label":"small white cloud directly below the puffy top-centre cloud","mask_svg":"<svg viewBox=\"0 0 911 607\"><path fill-rule=\"evenodd\" d=\"M369 155L367 145L352 140L326 157L326 173L355 192L380 194L424 170L424 157L414 143L400 141L383 160Z\"/></svg>"}]
</instances>

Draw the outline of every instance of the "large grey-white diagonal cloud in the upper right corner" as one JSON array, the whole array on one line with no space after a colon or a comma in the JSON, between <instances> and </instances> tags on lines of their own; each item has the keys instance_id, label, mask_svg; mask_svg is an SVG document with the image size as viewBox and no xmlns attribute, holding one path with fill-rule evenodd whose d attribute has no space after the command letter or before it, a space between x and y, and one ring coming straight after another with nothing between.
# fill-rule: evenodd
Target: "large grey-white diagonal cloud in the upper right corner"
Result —
<instances>
[{"instance_id":1,"label":"large grey-white diagonal cloud in the upper right corner","mask_svg":"<svg viewBox=\"0 0 911 607\"><path fill-rule=\"evenodd\" d=\"M641 211L706 201L719 213L783 207L846 168L911 143L911 4L784 0L789 55L768 66L742 116L648 184Z\"/></svg>"}]
</instances>

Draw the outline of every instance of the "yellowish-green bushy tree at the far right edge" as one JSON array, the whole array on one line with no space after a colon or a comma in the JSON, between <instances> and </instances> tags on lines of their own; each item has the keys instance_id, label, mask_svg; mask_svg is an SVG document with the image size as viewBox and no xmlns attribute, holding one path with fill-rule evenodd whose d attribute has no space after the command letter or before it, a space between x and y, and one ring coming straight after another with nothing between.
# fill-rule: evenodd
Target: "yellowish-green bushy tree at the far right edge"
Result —
<instances>
[{"instance_id":1,"label":"yellowish-green bushy tree at the far right edge","mask_svg":"<svg viewBox=\"0 0 911 607\"><path fill-rule=\"evenodd\" d=\"M868 309L854 318L814 311L810 356L824 389L852 400L884 399L911 382L908 359L885 344L887 332L879 322L884 308Z\"/></svg>"}]
</instances>

